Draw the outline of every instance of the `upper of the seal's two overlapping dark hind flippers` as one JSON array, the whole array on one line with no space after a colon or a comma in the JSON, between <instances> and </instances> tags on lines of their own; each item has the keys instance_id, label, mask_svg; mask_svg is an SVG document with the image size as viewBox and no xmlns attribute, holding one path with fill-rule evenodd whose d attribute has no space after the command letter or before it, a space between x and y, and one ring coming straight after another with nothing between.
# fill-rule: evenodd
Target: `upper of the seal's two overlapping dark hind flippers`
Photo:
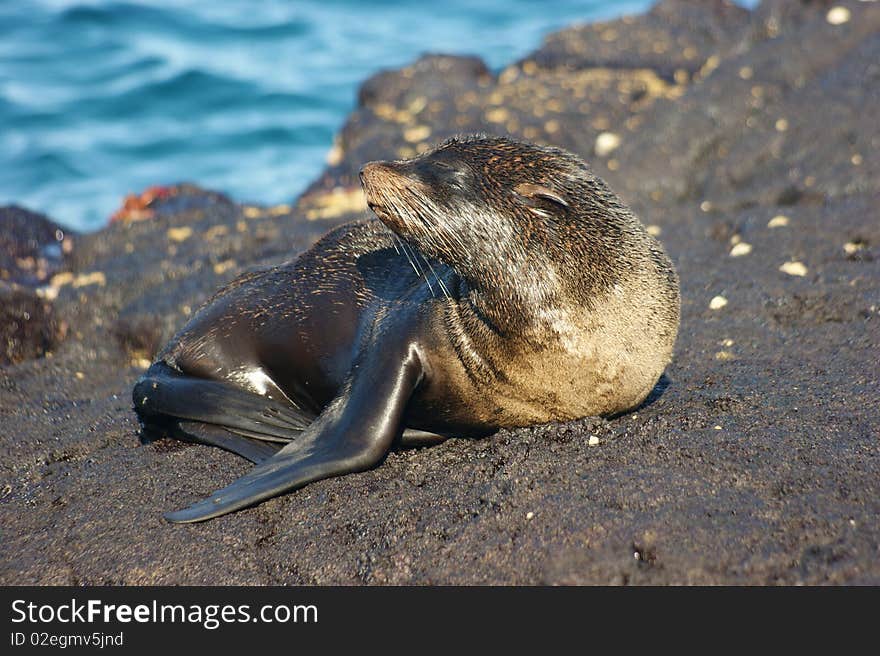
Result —
<instances>
[{"instance_id":1,"label":"upper of the seal's two overlapping dark hind flippers","mask_svg":"<svg viewBox=\"0 0 880 656\"><path fill-rule=\"evenodd\" d=\"M135 384L135 410L144 421L156 415L200 421L274 442L295 439L314 419L290 403L230 385L194 378L158 362Z\"/></svg>"}]
</instances>

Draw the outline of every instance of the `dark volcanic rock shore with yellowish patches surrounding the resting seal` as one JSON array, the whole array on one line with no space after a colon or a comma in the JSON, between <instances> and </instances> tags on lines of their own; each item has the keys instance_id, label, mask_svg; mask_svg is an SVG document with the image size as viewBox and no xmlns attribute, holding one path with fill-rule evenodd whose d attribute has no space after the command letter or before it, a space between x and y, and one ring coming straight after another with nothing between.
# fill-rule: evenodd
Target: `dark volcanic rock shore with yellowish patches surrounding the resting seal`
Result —
<instances>
[{"instance_id":1,"label":"dark volcanic rock shore with yellowish patches surrounding the resting seal","mask_svg":"<svg viewBox=\"0 0 880 656\"><path fill-rule=\"evenodd\" d=\"M290 206L179 185L87 235L0 209L0 582L880 583L878 110L880 3L664 0L497 75L435 55L370 78ZM248 465L138 443L158 346L363 217L362 163L474 131L577 152L659 235L683 295L665 388L165 523Z\"/></svg>"}]
</instances>

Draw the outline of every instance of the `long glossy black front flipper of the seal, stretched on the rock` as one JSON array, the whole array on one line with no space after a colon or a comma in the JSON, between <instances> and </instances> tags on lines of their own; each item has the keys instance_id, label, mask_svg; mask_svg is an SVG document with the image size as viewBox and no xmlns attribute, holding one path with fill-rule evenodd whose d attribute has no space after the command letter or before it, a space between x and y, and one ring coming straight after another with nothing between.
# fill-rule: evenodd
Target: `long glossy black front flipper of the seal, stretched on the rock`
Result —
<instances>
[{"instance_id":1,"label":"long glossy black front flipper of the seal, stretched on the rock","mask_svg":"<svg viewBox=\"0 0 880 656\"><path fill-rule=\"evenodd\" d=\"M396 346L372 345L339 395L294 442L232 485L165 518L178 523L211 519L312 481L377 464L400 436L404 409L424 372L416 344Z\"/></svg>"}]
</instances>

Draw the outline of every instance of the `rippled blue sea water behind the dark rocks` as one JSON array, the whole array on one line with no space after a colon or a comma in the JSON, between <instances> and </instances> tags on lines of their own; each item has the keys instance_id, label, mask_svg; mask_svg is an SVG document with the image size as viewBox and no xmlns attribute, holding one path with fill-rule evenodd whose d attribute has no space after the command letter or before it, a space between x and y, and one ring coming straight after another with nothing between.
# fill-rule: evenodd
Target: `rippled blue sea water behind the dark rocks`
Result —
<instances>
[{"instance_id":1,"label":"rippled blue sea water behind the dark rocks","mask_svg":"<svg viewBox=\"0 0 880 656\"><path fill-rule=\"evenodd\" d=\"M358 84L423 52L500 69L648 0L0 0L0 205L80 230L187 180L290 202Z\"/></svg>"}]
</instances>

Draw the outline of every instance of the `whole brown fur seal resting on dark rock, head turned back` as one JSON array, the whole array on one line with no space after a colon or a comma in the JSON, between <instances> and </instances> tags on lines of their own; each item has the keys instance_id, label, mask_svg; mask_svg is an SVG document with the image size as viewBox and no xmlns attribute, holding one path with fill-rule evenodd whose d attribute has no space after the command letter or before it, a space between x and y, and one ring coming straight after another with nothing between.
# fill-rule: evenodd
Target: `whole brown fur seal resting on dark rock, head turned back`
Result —
<instances>
[{"instance_id":1,"label":"whole brown fur seal resting on dark rock, head turned back","mask_svg":"<svg viewBox=\"0 0 880 656\"><path fill-rule=\"evenodd\" d=\"M258 463L169 520L367 469L395 444L620 413L669 362L672 264L575 155L468 137L361 181L379 221L233 281L135 385L145 428Z\"/></svg>"}]
</instances>

